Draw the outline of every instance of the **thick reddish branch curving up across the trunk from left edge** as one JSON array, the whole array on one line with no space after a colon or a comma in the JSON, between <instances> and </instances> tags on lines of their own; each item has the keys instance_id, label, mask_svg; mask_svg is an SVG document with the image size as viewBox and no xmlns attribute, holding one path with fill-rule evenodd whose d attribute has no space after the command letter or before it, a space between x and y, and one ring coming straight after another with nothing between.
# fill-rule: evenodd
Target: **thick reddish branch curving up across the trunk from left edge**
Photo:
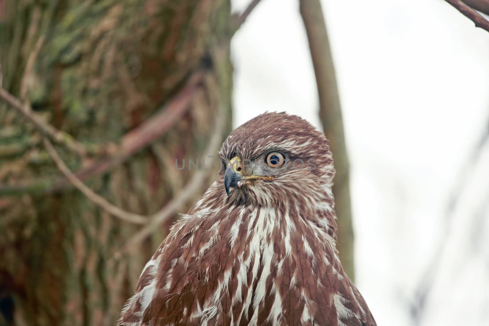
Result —
<instances>
[{"instance_id":1,"label":"thick reddish branch curving up across the trunk from left edge","mask_svg":"<svg viewBox=\"0 0 489 326\"><path fill-rule=\"evenodd\" d=\"M106 173L114 166L127 160L134 152L143 149L165 134L165 132L170 130L170 128L173 127L186 112L194 94L200 88L203 77L204 72L195 72L189 78L185 87L183 87L170 102L168 102L154 116L121 138L116 155L91 163L88 167L75 173L76 177L84 181L89 177ZM67 189L70 186L71 184L63 177L54 180L52 177L41 178L14 185L0 184L0 194L15 194L26 191L46 193Z\"/></svg>"}]
</instances>

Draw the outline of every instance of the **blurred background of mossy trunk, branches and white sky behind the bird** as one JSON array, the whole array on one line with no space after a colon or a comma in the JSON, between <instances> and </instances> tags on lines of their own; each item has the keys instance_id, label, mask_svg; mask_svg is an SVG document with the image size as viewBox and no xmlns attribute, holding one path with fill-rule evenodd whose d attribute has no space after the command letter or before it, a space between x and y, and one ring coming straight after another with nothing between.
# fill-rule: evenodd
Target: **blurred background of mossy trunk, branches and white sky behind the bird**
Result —
<instances>
[{"instance_id":1,"label":"blurred background of mossy trunk, branches and white sky behind the bird","mask_svg":"<svg viewBox=\"0 0 489 326\"><path fill-rule=\"evenodd\" d=\"M444 0L314 4L0 0L1 326L114 325L217 174L175 160L267 110L330 138L379 326L487 325L489 33Z\"/></svg>"}]
</instances>

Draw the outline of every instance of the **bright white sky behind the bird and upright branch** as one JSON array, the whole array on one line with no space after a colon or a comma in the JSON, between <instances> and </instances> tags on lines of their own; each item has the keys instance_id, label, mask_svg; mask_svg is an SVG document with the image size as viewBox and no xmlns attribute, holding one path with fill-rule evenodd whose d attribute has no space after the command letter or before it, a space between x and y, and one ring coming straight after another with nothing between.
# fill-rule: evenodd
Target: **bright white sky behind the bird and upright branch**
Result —
<instances>
[{"instance_id":1,"label":"bright white sky behind the bird and upright branch","mask_svg":"<svg viewBox=\"0 0 489 326\"><path fill-rule=\"evenodd\" d=\"M379 326L413 325L407 302L466 180L421 325L488 325L489 149L461 172L488 128L489 33L444 0L322 3L352 165L358 287ZM320 128L298 0L262 0L232 53L235 126L278 110Z\"/></svg>"}]
</instances>

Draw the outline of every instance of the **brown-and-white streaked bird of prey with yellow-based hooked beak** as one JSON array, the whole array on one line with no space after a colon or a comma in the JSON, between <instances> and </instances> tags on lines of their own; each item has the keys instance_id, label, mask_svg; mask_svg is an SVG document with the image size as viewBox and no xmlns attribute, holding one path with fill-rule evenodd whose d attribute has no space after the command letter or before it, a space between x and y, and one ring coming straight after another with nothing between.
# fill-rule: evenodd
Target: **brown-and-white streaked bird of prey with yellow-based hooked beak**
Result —
<instances>
[{"instance_id":1,"label":"brown-and-white streaked bird of prey with yellow-based hooked beak","mask_svg":"<svg viewBox=\"0 0 489 326\"><path fill-rule=\"evenodd\" d=\"M121 326L375 326L336 250L333 158L306 120L229 134L216 181L144 267Z\"/></svg>"}]
</instances>

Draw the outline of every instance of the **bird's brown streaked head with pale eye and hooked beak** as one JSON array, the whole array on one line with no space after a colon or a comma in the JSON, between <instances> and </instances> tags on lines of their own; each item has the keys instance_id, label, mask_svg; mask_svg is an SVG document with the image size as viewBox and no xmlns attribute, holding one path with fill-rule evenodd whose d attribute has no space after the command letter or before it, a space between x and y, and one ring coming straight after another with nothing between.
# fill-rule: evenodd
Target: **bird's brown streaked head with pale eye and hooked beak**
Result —
<instances>
[{"instance_id":1,"label":"bird's brown streaked head with pale eye and hooked beak","mask_svg":"<svg viewBox=\"0 0 489 326\"><path fill-rule=\"evenodd\" d=\"M332 186L326 137L295 115L270 112L249 120L229 134L219 156L219 178L232 201L270 205Z\"/></svg>"}]
</instances>

